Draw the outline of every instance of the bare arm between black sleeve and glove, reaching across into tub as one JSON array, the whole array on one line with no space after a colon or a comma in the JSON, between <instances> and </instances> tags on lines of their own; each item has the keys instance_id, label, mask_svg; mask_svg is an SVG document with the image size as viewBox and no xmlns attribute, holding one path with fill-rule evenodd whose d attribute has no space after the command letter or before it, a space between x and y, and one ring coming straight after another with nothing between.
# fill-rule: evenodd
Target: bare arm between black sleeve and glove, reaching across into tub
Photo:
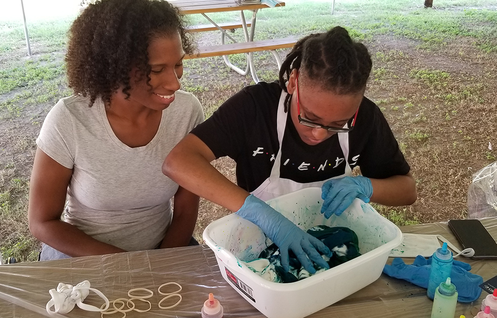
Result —
<instances>
[{"instance_id":1,"label":"bare arm between black sleeve and glove, reaching across into tub","mask_svg":"<svg viewBox=\"0 0 497 318\"><path fill-rule=\"evenodd\" d=\"M162 171L186 190L236 212L249 193L213 167L214 159L204 142L188 134L166 157Z\"/></svg>"}]
</instances>

